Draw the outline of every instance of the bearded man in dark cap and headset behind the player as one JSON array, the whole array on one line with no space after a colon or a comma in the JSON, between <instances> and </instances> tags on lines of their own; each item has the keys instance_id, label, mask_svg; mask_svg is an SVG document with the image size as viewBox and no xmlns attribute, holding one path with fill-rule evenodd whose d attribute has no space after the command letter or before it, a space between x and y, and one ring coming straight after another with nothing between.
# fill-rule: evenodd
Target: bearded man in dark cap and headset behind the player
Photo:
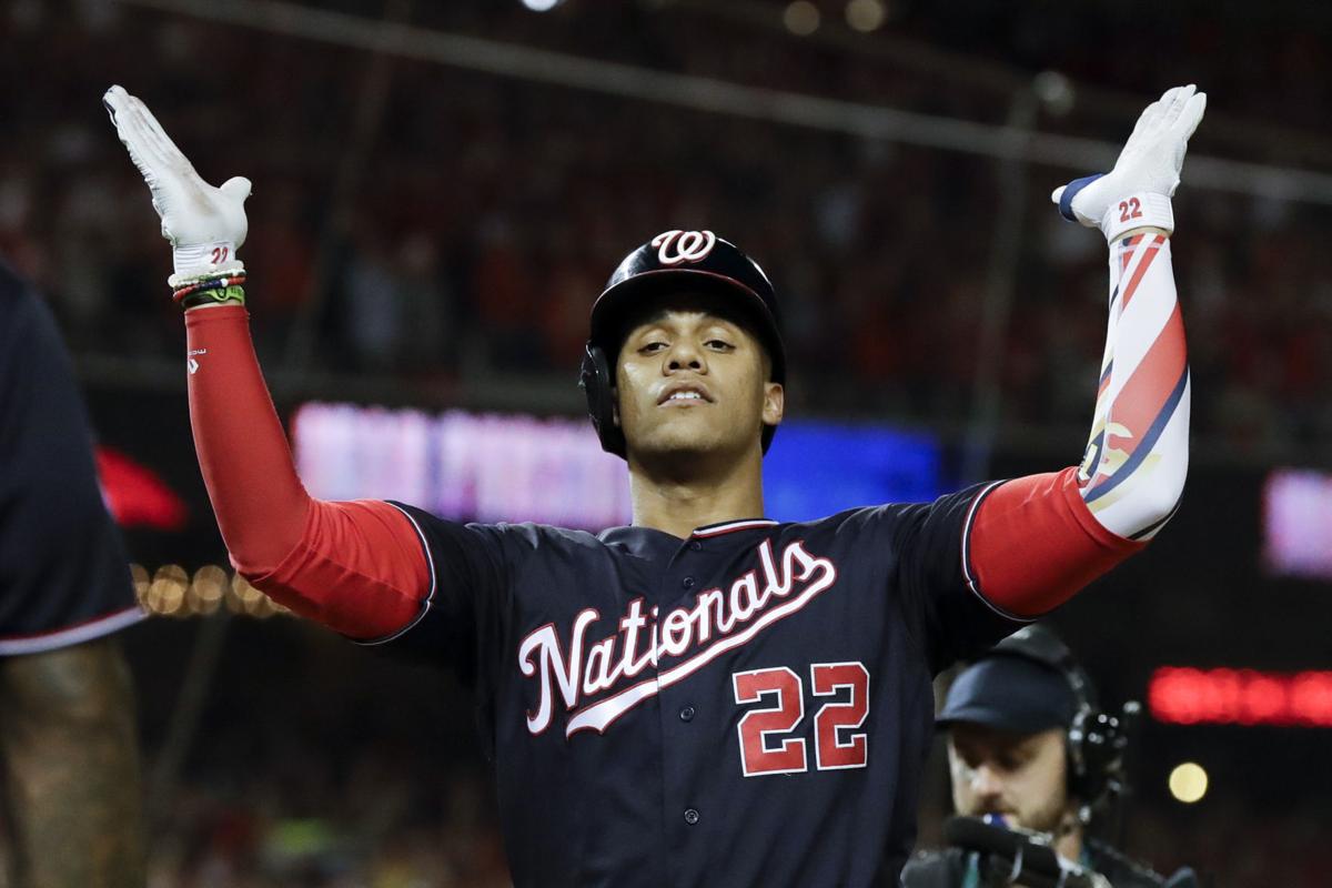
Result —
<instances>
[{"instance_id":1,"label":"bearded man in dark cap and headset behind the player","mask_svg":"<svg viewBox=\"0 0 1332 888\"><path fill-rule=\"evenodd\" d=\"M1040 833L1040 843L1063 859L1062 871L1076 867L1115 888L1196 885L1191 869L1167 880L1087 835L1094 817L1122 801L1132 711L1103 710L1091 678L1059 636L1040 623L1023 627L958 675L935 719L948 738L954 808ZM1004 837L998 839L1002 845ZM922 853L903 869L902 883L1007 885L1015 868L1032 867L1034 855L1019 861L1006 851L974 840ZM1036 884L1040 875L1062 872L1019 873L1018 883Z\"/></svg>"}]
</instances>

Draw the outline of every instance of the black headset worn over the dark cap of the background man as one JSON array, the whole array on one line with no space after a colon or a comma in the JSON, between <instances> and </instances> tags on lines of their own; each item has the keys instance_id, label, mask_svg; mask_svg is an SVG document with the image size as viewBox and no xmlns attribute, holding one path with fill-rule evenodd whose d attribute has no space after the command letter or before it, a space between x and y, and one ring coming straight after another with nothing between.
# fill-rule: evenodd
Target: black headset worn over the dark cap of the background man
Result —
<instances>
[{"instance_id":1,"label":"black headset worn over the dark cap of the background man","mask_svg":"<svg viewBox=\"0 0 1332 888\"><path fill-rule=\"evenodd\" d=\"M1072 651L1050 628L1032 623L999 642L990 655L1022 656L1063 676L1074 696L1068 723L1068 791L1078 797L1078 816L1088 823L1128 793L1126 754L1142 706L1124 703L1119 715L1100 708L1096 688Z\"/></svg>"}]
</instances>

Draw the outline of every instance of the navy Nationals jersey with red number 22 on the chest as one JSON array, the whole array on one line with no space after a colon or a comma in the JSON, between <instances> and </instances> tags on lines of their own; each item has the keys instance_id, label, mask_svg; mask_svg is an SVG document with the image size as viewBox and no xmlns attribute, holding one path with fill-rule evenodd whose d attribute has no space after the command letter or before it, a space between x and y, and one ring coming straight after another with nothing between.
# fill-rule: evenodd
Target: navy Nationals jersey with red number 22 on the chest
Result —
<instances>
[{"instance_id":1,"label":"navy Nationals jersey with red number 22 on the chest","mask_svg":"<svg viewBox=\"0 0 1332 888\"><path fill-rule=\"evenodd\" d=\"M968 580L988 489L689 539L458 525L378 642L477 690L518 885L896 884L931 679L1018 627Z\"/></svg>"}]
</instances>

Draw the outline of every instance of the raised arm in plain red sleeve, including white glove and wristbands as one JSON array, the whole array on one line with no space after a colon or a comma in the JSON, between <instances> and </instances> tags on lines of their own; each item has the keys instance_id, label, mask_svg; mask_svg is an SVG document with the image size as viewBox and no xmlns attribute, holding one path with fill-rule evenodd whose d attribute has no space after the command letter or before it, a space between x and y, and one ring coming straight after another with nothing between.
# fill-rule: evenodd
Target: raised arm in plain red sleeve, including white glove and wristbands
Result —
<instances>
[{"instance_id":1,"label":"raised arm in plain red sleeve, including white glove and wristbands","mask_svg":"<svg viewBox=\"0 0 1332 888\"><path fill-rule=\"evenodd\" d=\"M236 256L249 180L213 188L141 101L120 87L103 101L173 248L194 449L232 564L274 600L345 635L409 626L430 587L410 521L384 502L313 499L296 474L254 355Z\"/></svg>"}]
</instances>

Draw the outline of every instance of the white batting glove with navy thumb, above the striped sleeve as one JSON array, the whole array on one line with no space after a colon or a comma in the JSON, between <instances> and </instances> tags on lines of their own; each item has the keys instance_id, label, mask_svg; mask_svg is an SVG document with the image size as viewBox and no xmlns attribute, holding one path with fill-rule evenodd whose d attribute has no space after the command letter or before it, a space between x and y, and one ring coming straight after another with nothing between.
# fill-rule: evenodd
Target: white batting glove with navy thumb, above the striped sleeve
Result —
<instances>
[{"instance_id":1,"label":"white batting glove with navy thumb, above the striped sleeve","mask_svg":"<svg viewBox=\"0 0 1332 888\"><path fill-rule=\"evenodd\" d=\"M1179 188L1188 137L1207 109L1207 93L1196 89L1175 87L1147 105L1115 169L1056 188L1050 200L1063 217L1099 228L1111 242L1135 228L1173 232L1169 198Z\"/></svg>"}]
</instances>

